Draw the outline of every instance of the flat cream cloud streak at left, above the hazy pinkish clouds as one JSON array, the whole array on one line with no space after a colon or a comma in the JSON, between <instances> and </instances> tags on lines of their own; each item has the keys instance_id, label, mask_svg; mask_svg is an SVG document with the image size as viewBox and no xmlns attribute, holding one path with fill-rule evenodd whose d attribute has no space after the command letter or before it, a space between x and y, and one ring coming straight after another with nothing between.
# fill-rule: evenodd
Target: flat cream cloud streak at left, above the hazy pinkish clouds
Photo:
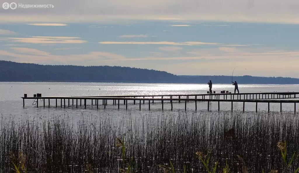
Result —
<instances>
[{"instance_id":1,"label":"flat cream cloud streak at left, above the hazy pinkish clouds","mask_svg":"<svg viewBox=\"0 0 299 173\"><path fill-rule=\"evenodd\" d=\"M63 43L63 44L74 44L74 43L86 43L85 40L80 40L80 37L49 37L49 36L33 36L26 38L16 38L9 37L7 38L11 42L23 42L23 43L35 43L35 44L54 44L54 43Z\"/></svg>"}]
</instances>

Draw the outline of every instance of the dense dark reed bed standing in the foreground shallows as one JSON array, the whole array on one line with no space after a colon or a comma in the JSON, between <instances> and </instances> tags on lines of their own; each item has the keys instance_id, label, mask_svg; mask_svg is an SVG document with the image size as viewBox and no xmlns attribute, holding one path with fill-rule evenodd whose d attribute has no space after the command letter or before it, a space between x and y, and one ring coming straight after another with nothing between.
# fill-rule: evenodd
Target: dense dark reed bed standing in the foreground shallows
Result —
<instances>
[{"instance_id":1,"label":"dense dark reed bed standing in the foreground shallows","mask_svg":"<svg viewBox=\"0 0 299 173\"><path fill-rule=\"evenodd\" d=\"M164 172L158 165L167 167L170 160L176 172L184 166L186 172L206 172L196 152L210 152L209 166L219 161L216 172L226 160L231 172L242 172L237 155L252 173L289 173L299 167L297 159L283 169L277 147L286 140L288 160L299 151L299 117L289 113L126 114L118 122L82 115L76 123L69 116L2 118L0 137L0 172L15 172L13 163L28 172L119 172L130 163L130 172L150 173ZM116 138L124 139L125 148L116 146Z\"/></svg>"}]
</instances>

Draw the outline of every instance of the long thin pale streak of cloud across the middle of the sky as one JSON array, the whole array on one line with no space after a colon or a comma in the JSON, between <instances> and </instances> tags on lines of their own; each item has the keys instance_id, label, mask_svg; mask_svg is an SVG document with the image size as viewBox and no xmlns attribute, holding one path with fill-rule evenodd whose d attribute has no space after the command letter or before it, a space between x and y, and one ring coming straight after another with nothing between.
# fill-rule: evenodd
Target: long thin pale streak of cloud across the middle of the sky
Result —
<instances>
[{"instance_id":1,"label":"long thin pale streak of cloud across the middle of the sky","mask_svg":"<svg viewBox=\"0 0 299 173\"><path fill-rule=\"evenodd\" d=\"M99 42L100 44L109 44L109 45L184 45L184 46L193 46L193 45L221 45L221 43L207 43L207 42Z\"/></svg>"}]
</instances>

